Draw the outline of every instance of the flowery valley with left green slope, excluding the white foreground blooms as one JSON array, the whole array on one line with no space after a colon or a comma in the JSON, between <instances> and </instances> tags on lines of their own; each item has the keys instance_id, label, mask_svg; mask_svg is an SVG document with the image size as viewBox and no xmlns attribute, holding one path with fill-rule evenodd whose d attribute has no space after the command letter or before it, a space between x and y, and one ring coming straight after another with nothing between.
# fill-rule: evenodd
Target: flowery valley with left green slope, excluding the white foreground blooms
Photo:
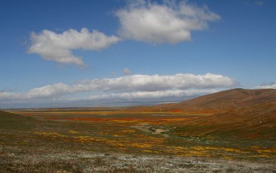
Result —
<instances>
[{"instance_id":1,"label":"flowery valley with left green slope, excluding the white foreground blooms","mask_svg":"<svg viewBox=\"0 0 276 173\"><path fill-rule=\"evenodd\" d=\"M1 116L2 158L8 153L93 153L266 164L275 163L276 158L273 139L253 140L238 131L239 135L213 132L216 127L212 123L193 126L194 121L212 116L210 113L127 112L120 108L10 112Z\"/></svg>"}]
</instances>

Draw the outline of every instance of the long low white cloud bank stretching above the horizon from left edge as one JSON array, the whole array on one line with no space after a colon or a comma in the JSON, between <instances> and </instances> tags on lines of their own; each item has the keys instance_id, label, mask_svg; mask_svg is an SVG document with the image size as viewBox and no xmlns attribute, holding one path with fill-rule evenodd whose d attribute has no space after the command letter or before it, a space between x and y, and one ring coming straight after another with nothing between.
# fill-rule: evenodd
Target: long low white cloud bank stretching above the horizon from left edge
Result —
<instances>
[{"instance_id":1,"label":"long low white cloud bank stretching above the horizon from left edge","mask_svg":"<svg viewBox=\"0 0 276 173\"><path fill-rule=\"evenodd\" d=\"M0 92L0 100L49 99L79 92L103 92L101 96L106 94L113 97L161 97L192 93L192 90L202 92L208 89L230 88L235 85L235 79L221 74L134 74L111 79L86 80L75 85L54 83L24 93ZM94 97L96 98L97 94Z\"/></svg>"}]
</instances>

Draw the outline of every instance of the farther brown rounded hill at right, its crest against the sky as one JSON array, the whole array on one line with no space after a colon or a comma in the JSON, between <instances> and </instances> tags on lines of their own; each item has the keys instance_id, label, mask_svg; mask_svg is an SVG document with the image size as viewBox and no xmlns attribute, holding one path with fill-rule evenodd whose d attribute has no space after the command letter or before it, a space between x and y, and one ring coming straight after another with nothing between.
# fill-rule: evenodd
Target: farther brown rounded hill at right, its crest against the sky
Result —
<instances>
[{"instance_id":1,"label":"farther brown rounded hill at right, its crest against the sky","mask_svg":"<svg viewBox=\"0 0 276 173\"><path fill-rule=\"evenodd\" d=\"M136 111L181 111L181 112L226 112L264 103L276 103L275 89L245 90L241 88L225 90L214 94L199 96L179 103L155 106L132 107Z\"/></svg>"}]
</instances>

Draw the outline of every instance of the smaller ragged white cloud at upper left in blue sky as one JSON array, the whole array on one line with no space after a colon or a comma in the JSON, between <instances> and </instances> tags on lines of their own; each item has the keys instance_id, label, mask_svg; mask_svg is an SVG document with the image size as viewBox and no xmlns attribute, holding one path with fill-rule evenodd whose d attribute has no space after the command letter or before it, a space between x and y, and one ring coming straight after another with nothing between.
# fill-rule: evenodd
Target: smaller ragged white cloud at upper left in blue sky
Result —
<instances>
[{"instance_id":1,"label":"smaller ragged white cloud at upper left in blue sky","mask_svg":"<svg viewBox=\"0 0 276 173\"><path fill-rule=\"evenodd\" d=\"M72 50L102 50L119 40L118 37L108 37L97 30L89 32L87 28L82 28L80 32L70 29L61 34L43 30L41 33L32 32L28 52L58 63L84 65L81 57L72 54Z\"/></svg>"}]
</instances>

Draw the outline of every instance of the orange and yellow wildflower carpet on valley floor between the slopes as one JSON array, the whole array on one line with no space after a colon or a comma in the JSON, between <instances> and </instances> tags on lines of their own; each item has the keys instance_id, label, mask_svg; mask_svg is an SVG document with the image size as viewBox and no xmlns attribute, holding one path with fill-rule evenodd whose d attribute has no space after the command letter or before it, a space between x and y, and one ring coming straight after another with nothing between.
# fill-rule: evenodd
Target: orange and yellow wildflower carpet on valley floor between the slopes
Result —
<instances>
[{"instance_id":1,"label":"orange and yellow wildflower carpet on valley floor between the slopes","mask_svg":"<svg viewBox=\"0 0 276 173\"><path fill-rule=\"evenodd\" d=\"M10 112L43 123L43 127L30 130L28 135L34 141L55 141L58 143L55 147L60 145L74 150L95 152L162 154L227 160L275 161L276 158L275 141L269 135L259 138L259 132L253 130L248 134L246 129L240 127L233 127L235 129L231 131L227 128L218 129L217 125L210 121L193 125L201 117L212 116L210 112L128 112L120 108L64 108Z\"/></svg>"}]
</instances>

